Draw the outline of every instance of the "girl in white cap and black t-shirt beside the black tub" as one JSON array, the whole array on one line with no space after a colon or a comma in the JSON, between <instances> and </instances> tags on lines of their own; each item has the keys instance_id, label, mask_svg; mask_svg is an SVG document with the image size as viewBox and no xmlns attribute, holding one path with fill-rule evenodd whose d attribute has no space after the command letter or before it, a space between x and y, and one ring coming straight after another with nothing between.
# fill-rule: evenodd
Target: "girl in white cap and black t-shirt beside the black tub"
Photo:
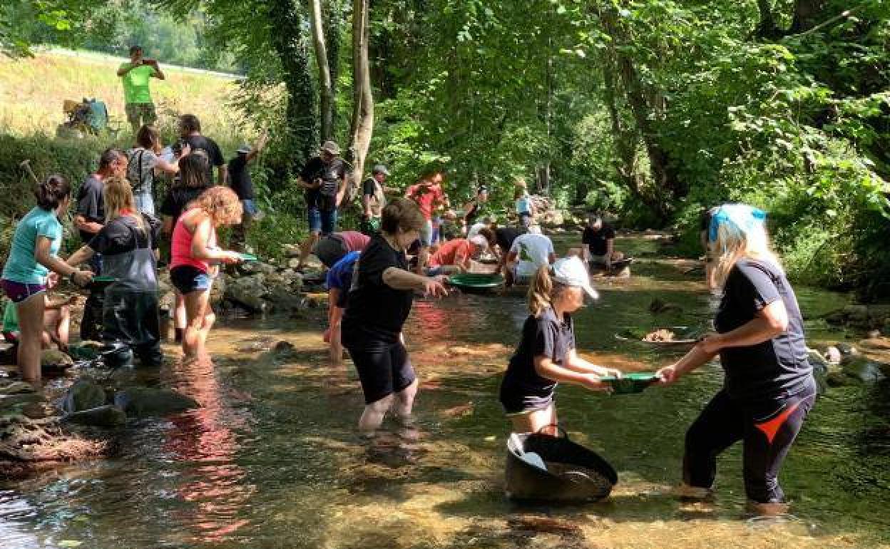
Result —
<instances>
[{"instance_id":1,"label":"girl in white cap and black t-shirt beside the black tub","mask_svg":"<svg viewBox=\"0 0 890 549\"><path fill-rule=\"evenodd\" d=\"M538 269L529 287L528 319L522 340L500 386L500 401L513 432L538 432L556 425L554 392L559 382L608 391L600 381L619 370L599 367L578 356L571 313L584 306L584 296L597 297L584 263L578 257L560 259Z\"/></svg>"}]
</instances>

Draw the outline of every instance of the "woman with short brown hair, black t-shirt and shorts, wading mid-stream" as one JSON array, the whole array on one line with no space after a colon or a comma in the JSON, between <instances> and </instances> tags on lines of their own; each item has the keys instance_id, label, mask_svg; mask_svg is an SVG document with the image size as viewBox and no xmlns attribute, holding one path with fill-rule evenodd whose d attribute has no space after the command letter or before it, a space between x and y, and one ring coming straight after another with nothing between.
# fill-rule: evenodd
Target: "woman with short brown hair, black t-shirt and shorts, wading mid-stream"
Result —
<instances>
[{"instance_id":1,"label":"woman with short brown hair, black t-shirt and shorts, wading mid-stream","mask_svg":"<svg viewBox=\"0 0 890 549\"><path fill-rule=\"evenodd\" d=\"M401 327L408 319L415 290L434 296L448 293L440 279L408 270L405 250L420 237L425 223L424 215L409 200L386 206L380 232L361 252L352 276L341 331L365 394L359 430L366 434L380 427L390 409L400 424L413 424L417 376Z\"/></svg>"}]
</instances>

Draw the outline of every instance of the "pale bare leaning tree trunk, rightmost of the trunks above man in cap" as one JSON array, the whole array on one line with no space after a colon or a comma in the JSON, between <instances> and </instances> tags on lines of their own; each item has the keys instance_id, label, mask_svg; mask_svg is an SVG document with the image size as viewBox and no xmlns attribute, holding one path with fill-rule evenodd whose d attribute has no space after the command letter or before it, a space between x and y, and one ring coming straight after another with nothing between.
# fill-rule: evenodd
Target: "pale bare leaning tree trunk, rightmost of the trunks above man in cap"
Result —
<instances>
[{"instance_id":1,"label":"pale bare leaning tree trunk, rightmost of the trunks above man in cap","mask_svg":"<svg viewBox=\"0 0 890 549\"><path fill-rule=\"evenodd\" d=\"M374 133L374 95L368 63L368 2L352 1L353 108L350 149L353 155L352 183L360 185L365 158Z\"/></svg>"}]
</instances>

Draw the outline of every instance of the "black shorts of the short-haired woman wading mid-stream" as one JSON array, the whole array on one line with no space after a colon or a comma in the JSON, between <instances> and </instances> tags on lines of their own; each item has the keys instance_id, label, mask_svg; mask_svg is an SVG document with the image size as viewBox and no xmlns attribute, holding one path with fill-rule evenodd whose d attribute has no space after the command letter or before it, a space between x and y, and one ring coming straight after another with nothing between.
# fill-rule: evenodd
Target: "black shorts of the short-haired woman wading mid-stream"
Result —
<instances>
[{"instance_id":1,"label":"black shorts of the short-haired woman wading mid-stream","mask_svg":"<svg viewBox=\"0 0 890 549\"><path fill-rule=\"evenodd\" d=\"M417 379L408 350L401 342L362 344L360 348L346 345L346 350L359 372L365 404L400 392Z\"/></svg>"}]
</instances>

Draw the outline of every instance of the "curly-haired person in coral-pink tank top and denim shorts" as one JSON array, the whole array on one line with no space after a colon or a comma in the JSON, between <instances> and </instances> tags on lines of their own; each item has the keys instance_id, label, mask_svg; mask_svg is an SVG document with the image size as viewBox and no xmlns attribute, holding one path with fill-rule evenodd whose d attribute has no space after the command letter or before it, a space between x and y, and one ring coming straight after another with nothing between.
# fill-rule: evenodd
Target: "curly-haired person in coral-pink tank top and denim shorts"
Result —
<instances>
[{"instance_id":1,"label":"curly-haired person in coral-pink tank top and denim shorts","mask_svg":"<svg viewBox=\"0 0 890 549\"><path fill-rule=\"evenodd\" d=\"M204 345L214 325L210 287L219 263L241 261L238 252L216 247L216 229L241 222L241 201L227 187L205 190L187 206L173 230L170 281L177 297L185 303L186 327L182 351L186 357L204 354Z\"/></svg>"}]
</instances>

